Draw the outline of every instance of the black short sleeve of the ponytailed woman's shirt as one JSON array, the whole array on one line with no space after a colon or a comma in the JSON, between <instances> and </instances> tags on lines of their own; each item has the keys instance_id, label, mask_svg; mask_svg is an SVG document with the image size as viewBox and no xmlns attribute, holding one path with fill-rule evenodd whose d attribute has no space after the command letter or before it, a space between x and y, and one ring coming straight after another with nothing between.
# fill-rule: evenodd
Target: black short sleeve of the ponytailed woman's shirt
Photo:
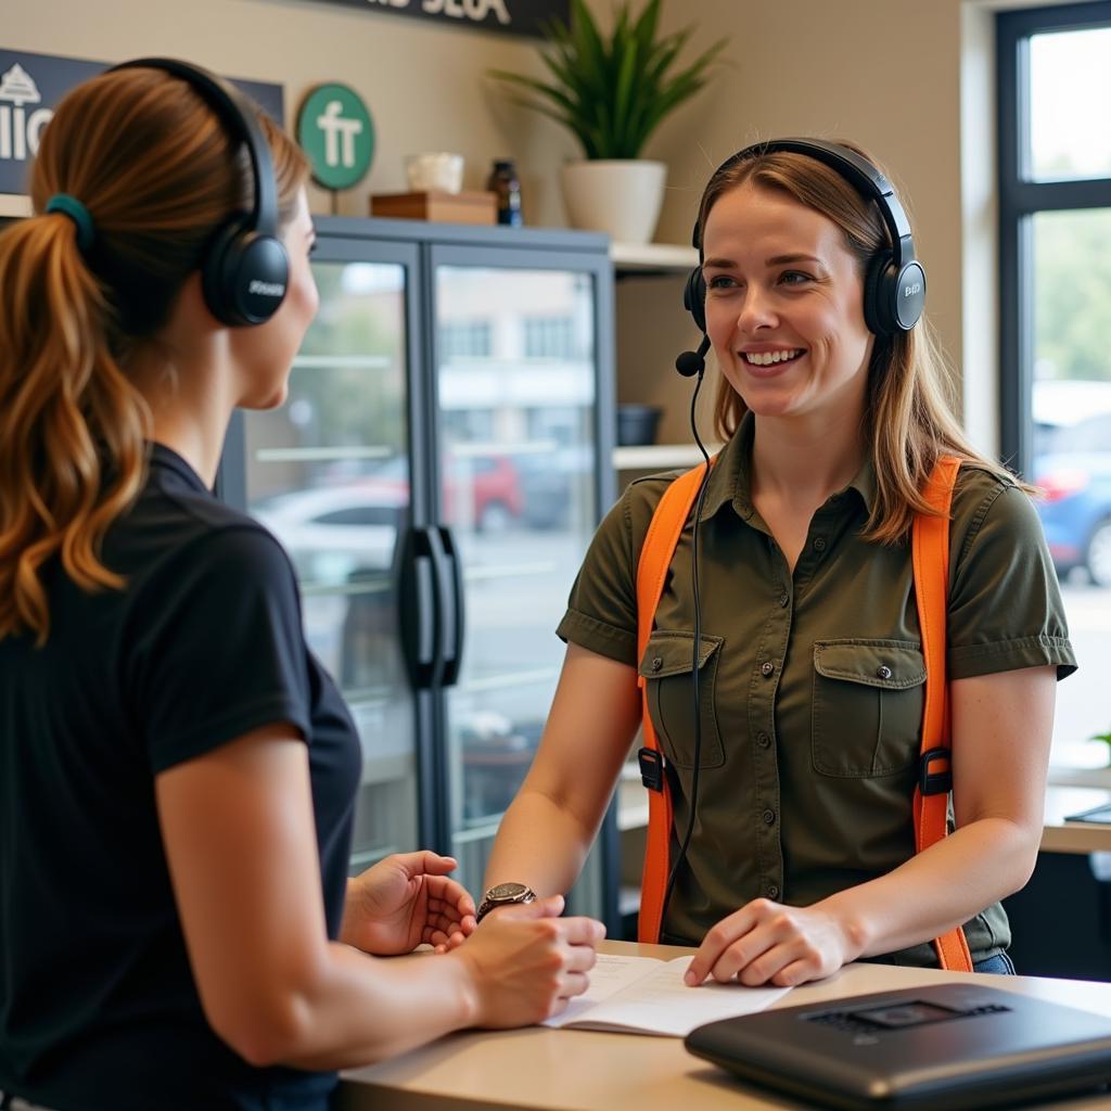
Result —
<instances>
[{"instance_id":1,"label":"black short sleeve of the ponytailed woman's shirt","mask_svg":"<svg viewBox=\"0 0 1111 1111\"><path fill-rule=\"evenodd\" d=\"M144 595L128 689L154 774L273 722L310 738L297 581L273 537L208 533L151 575Z\"/></svg>"}]
</instances>

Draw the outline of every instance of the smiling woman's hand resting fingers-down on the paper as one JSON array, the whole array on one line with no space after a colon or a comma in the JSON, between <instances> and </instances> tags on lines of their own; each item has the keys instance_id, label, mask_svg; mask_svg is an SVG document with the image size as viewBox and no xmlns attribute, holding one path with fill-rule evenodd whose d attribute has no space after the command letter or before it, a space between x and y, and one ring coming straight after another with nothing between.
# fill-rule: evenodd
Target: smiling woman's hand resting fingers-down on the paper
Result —
<instances>
[{"instance_id":1,"label":"smiling woman's hand resting fingers-down on the paper","mask_svg":"<svg viewBox=\"0 0 1111 1111\"><path fill-rule=\"evenodd\" d=\"M788 988L832 975L857 955L842 923L821 903L784 907L754 899L707 933L684 979L691 985L712 977Z\"/></svg>"}]
</instances>

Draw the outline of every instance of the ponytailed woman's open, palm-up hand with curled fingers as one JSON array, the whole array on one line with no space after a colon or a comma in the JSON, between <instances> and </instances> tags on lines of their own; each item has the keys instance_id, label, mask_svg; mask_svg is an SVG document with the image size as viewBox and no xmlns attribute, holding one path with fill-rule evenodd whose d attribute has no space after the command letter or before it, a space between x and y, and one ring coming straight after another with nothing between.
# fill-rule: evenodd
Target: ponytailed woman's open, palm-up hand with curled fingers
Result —
<instances>
[{"instance_id":1,"label":"ponytailed woman's open, palm-up hand with curled fingers","mask_svg":"<svg viewBox=\"0 0 1111 1111\"><path fill-rule=\"evenodd\" d=\"M394 853L348 881L340 940L377 957L420 944L447 952L474 931L474 900L449 878L451 857Z\"/></svg>"}]
</instances>

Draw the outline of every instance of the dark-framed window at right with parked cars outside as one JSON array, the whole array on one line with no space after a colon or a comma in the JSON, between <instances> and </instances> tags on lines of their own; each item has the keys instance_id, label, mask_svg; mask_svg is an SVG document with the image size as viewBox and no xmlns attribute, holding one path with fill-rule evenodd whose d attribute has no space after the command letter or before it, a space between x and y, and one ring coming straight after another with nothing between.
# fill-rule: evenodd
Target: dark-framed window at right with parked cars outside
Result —
<instances>
[{"instance_id":1,"label":"dark-framed window at right with parked cars outside","mask_svg":"<svg viewBox=\"0 0 1111 1111\"><path fill-rule=\"evenodd\" d=\"M995 42L1002 454L1039 488L1080 663L1058 688L1063 779L1111 763L1111 0L1015 6Z\"/></svg>"}]
</instances>

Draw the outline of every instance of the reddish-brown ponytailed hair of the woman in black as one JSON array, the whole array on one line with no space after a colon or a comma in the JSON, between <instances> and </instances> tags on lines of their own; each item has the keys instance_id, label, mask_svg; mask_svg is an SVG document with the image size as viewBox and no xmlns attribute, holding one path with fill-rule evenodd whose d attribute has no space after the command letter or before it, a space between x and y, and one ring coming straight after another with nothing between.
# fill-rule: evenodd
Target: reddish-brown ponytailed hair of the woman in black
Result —
<instances>
[{"instance_id":1,"label":"reddish-brown ponytailed hair of the woman in black","mask_svg":"<svg viewBox=\"0 0 1111 1111\"><path fill-rule=\"evenodd\" d=\"M304 157L260 113L279 223ZM54 193L90 212L34 216L0 236L0 638L50 627L43 564L84 590L120 588L100 561L108 527L146 476L149 412L129 366L150 349L213 232L249 209L246 150L207 102L160 70L103 73L72 90L31 174L37 213Z\"/></svg>"}]
</instances>

